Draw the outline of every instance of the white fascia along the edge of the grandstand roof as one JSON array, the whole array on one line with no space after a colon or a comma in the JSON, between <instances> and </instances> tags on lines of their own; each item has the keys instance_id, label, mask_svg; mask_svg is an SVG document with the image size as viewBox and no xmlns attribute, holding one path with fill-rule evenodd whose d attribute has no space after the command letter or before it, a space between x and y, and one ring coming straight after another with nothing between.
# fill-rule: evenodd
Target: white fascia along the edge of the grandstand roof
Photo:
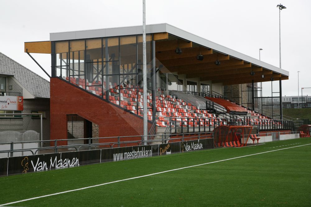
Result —
<instances>
[{"instance_id":1,"label":"white fascia along the edge of the grandstand roof","mask_svg":"<svg viewBox=\"0 0 311 207\"><path fill-rule=\"evenodd\" d=\"M244 55L235 50L229 49L217 43L211 42L207 39L199 37L195 34L189 33L185 30L179 29L172 25L162 23L155 25L146 25L146 33L160 33L167 32L169 34L175 35L177 37L189 40L193 43L197 43L204 47L211 48L213 50L228 54L235 58L250 62L254 65L261 66L268 70L272 70L276 73L280 73L289 76L289 72L280 69L276 66L270 65L256 58ZM116 28L106 28L106 29L91 29L91 30L80 30L71 32L58 32L50 33L50 41L60 41L60 40L72 40L72 39L86 39L86 38L100 38L100 37L114 37L114 36L124 36L124 35L137 35L142 34L142 26L129 26L129 27L116 27Z\"/></svg>"}]
</instances>

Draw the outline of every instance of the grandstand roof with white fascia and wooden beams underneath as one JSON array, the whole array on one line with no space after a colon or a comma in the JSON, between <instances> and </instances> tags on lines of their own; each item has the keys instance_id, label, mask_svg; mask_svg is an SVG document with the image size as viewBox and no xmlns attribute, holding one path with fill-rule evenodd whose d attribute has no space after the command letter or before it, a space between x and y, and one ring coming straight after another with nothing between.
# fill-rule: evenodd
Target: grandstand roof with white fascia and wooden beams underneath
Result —
<instances>
[{"instance_id":1,"label":"grandstand roof with white fascia and wooden beams underneath","mask_svg":"<svg viewBox=\"0 0 311 207\"><path fill-rule=\"evenodd\" d=\"M271 78L285 80L289 76L289 72L286 70L166 23L147 25L146 33L154 34L154 40L156 40L156 65L164 65L163 72L178 72L178 74L186 74L187 78L200 77L202 81L212 80L212 83L223 83L223 85L250 83L252 80L254 82L264 82L270 81ZM50 33L50 41L139 34L142 34L142 26L129 26ZM37 42L41 45L47 43L46 48L48 48L48 50L39 53L51 52L49 49L50 41ZM36 50L31 50L31 43L28 44L25 43L25 52L27 48L28 52L36 52ZM174 50L177 46L183 49L182 55L175 54ZM204 61L196 60L199 51L203 53ZM205 55L208 57L205 57ZM218 59L221 61L221 65L216 66L214 62ZM256 72L256 75L251 76L250 72Z\"/></svg>"}]
</instances>

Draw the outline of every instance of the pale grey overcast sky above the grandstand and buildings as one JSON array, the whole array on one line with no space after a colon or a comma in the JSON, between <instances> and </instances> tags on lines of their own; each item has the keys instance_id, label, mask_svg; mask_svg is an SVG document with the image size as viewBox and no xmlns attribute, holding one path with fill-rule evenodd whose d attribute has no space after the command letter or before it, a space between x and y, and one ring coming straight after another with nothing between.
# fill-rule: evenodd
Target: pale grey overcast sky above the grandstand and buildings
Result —
<instances>
[{"instance_id":1,"label":"pale grey overcast sky above the grandstand and buildings","mask_svg":"<svg viewBox=\"0 0 311 207\"><path fill-rule=\"evenodd\" d=\"M146 0L146 23L168 23L202 38L279 66L279 11L281 11L283 96L311 87L310 0ZM142 25L142 0L1 1L0 52L45 79L46 74L24 53L24 42L49 40L49 33ZM33 54L51 74L49 54ZM311 95L311 88L303 95ZM300 94L301 95L301 92Z\"/></svg>"}]
</instances>

